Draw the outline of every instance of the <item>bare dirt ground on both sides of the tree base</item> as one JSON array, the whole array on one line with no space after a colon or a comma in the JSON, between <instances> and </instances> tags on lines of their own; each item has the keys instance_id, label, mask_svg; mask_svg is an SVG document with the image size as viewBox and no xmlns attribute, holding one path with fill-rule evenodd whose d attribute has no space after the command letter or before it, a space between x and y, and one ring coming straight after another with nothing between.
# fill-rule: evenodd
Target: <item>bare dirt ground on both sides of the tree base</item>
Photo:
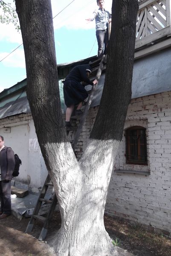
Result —
<instances>
[{"instance_id":1,"label":"bare dirt ground on both sides of the tree base","mask_svg":"<svg viewBox=\"0 0 171 256\"><path fill-rule=\"evenodd\" d=\"M29 218L21 221L14 216L0 220L0 255L2 256L53 256L50 237L61 226L58 212L53 214L46 241L38 241L41 224L35 223L32 233L25 234ZM171 240L140 227L104 216L107 232L114 246L119 246L134 256L171 256Z\"/></svg>"}]
</instances>

